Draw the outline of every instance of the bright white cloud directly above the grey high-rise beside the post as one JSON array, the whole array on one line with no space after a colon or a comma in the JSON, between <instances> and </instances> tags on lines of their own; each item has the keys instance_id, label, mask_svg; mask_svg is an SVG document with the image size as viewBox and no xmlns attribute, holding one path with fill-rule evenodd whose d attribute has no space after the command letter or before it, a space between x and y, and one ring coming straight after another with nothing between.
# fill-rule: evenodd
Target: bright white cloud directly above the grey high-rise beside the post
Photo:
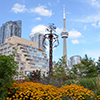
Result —
<instances>
[{"instance_id":1,"label":"bright white cloud directly above the grey high-rise beside the post","mask_svg":"<svg viewBox=\"0 0 100 100\"><path fill-rule=\"evenodd\" d=\"M36 27L34 27L31 31L31 34L35 34L35 33L41 33L41 34L45 34L46 33L46 28L47 26L44 26L44 25L38 25Z\"/></svg>"}]
</instances>

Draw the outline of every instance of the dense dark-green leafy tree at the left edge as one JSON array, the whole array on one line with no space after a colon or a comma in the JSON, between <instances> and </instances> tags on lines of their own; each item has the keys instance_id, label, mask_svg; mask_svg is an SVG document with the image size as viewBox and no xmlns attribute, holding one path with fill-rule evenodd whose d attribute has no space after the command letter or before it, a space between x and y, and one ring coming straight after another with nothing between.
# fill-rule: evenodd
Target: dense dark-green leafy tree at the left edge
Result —
<instances>
[{"instance_id":1,"label":"dense dark-green leafy tree at the left edge","mask_svg":"<svg viewBox=\"0 0 100 100\"><path fill-rule=\"evenodd\" d=\"M7 90L12 86L13 76L17 73L17 62L14 61L14 55L0 55L0 99L5 100Z\"/></svg>"}]
</instances>

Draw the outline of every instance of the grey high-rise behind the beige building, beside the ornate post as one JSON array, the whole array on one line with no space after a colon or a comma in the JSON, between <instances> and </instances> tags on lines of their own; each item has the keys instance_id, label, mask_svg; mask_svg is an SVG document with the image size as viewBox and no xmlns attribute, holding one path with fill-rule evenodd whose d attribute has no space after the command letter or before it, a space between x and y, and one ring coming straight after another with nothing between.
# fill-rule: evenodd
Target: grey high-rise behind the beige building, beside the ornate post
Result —
<instances>
[{"instance_id":1,"label":"grey high-rise behind the beige building, beside the ornate post","mask_svg":"<svg viewBox=\"0 0 100 100\"><path fill-rule=\"evenodd\" d=\"M43 34L41 33L35 33L30 35L30 40L33 42L38 43L38 48L41 48L43 51L45 51L45 48L42 45L43 41Z\"/></svg>"}]
</instances>

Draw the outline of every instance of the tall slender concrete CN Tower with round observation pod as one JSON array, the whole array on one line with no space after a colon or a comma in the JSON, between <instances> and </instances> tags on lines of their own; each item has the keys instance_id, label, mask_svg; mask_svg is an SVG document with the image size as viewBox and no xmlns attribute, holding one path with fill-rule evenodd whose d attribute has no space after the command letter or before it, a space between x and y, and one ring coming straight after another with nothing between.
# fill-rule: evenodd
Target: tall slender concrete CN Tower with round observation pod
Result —
<instances>
[{"instance_id":1,"label":"tall slender concrete CN Tower with round observation pod","mask_svg":"<svg viewBox=\"0 0 100 100\"><path fill-rule=\"evenodd\" d=\"M63 56L67 62L67 43L66 38L68 38L68 32L66 31L66 18L65 18L65 5L63 5L63 31L61 33L61 37L63 38Z\"/></svg>"}]
</instances>

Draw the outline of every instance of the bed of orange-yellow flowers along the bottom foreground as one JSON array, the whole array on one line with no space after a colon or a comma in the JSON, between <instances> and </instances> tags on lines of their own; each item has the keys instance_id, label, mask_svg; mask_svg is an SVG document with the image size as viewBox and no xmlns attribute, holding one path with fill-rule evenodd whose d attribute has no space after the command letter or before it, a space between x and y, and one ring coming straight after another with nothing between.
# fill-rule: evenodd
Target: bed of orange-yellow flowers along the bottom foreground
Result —
<instances>
[{"instance_id":1,"label":"bed of orange-yellow flowers along the bottom foreground","mask_svg":"<svg viewBox=\"0 0 100 100\"><path fill-rule=\"evenodd\" d=\"M75 84L61 88L33 82L13 85L6 100L93 100L95 95L93 91Z\"/></svg>"}]
</instances>

